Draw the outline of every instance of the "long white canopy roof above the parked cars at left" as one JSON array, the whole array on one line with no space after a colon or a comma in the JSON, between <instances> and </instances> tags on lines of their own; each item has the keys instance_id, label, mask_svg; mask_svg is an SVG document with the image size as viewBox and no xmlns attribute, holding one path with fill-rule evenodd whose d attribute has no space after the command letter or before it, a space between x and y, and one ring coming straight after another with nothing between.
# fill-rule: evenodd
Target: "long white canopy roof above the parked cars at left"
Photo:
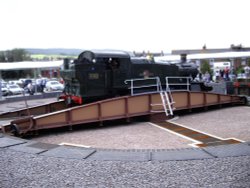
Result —
<instances>
[{"instance_id":1,"label":"long white canopy roof above the parked cars at left","mask_svg":"<svg viewBox=\"0 0 250 188\"><path fill-rule=\"evenodd\" d=\"M22 61L13 63L0 63L0 71L24 70L24 69L58 69L63 61Z\"/></svg>"}]
</instances>

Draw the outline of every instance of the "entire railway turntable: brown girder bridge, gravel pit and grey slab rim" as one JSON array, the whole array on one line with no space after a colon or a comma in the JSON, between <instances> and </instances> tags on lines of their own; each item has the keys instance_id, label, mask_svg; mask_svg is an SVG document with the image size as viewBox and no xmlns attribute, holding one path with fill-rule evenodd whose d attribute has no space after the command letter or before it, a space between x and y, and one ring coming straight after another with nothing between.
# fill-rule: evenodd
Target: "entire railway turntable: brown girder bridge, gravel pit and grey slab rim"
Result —
<instances>
[{"instance_id":1,"label":"entire railway turntable: brown girder bridge, gravel pit and grey slab rim","mask_svg":"<svg viewBox=\"0 0 250 188\"><path fill-rule=\"evenodd\" d=\"M216 107L217 110L194 115L189 113L187 118L185 116L172 118L173 115L169 115L171 120L163 121L164 118L166 120L166 113L164 105L159 105L162 103L162 96L159 93L122 96L71 108L65 108L63 101L52 102L29 108L30 114L37 114L40 111L44 113L42 115L24 116L2 126L4 134L0 133L0 149L9 148L12 151L36 154L40 157L87 161L183 161L250 155L249 127L245 123L245 118L249 117L249 107L237 106L244 104L244 98L190 91L171 92L171 96L174 101L172 106L174 113L183 110L196 111L195 109L200 111L210 107ZM228 105L231 107L220 108ZM113 106L115 110L112 110ZM64 109L57 111L61 107ZM12 113L16 115L17 111ZM196 121L196 117L201 114L207 115L197 118ZM232 114L237 117L233 117ZM3 116L10 118L12 115L6 113L2 114ZM105 124L114 119L130 120L141 116L150 117L151 123L114 124L87 130L80 128L89 122ZM231 124L223 125L219 121L222 116L227 116L227 121ZM78 119L75 119L76 117ZM188 117L193 118L191 122L198 122L202 126L207 122L206 129L195 124L191 126ZM240 119L237 120L239 122L237 125L232 125L233 118ZM217 121L221 126L214 126L213 122ZM61 126L73 128L73 131L52 134L52 128L55 130L54 128ZM210 128L214 130L211 131ZM39 130L48 130L50 134L41 134L32 137L31 140L25 137ZM219 134L223 131L224 134ZM8 134L24 136L26 139L9 137Z\"/></svg>"}]
</instances>

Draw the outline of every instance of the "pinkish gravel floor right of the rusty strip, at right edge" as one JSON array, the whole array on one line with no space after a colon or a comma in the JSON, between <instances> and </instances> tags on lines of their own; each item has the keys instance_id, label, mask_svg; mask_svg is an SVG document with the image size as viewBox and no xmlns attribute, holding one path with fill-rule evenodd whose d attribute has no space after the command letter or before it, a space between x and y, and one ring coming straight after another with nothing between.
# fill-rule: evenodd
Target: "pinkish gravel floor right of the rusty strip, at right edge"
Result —
<instances>
[{"instance_id":1,"label":"pinkish gravel floor right of the rusty strip, at right edge","mask_svg":"<svg viewBox=\"0 0 250 188\"><path fill-rule=\"evenodd\" d=\"M250 141L250 107L236 106L180 116L174 122L221 137Z\"/></svg>"}]
</instances>

